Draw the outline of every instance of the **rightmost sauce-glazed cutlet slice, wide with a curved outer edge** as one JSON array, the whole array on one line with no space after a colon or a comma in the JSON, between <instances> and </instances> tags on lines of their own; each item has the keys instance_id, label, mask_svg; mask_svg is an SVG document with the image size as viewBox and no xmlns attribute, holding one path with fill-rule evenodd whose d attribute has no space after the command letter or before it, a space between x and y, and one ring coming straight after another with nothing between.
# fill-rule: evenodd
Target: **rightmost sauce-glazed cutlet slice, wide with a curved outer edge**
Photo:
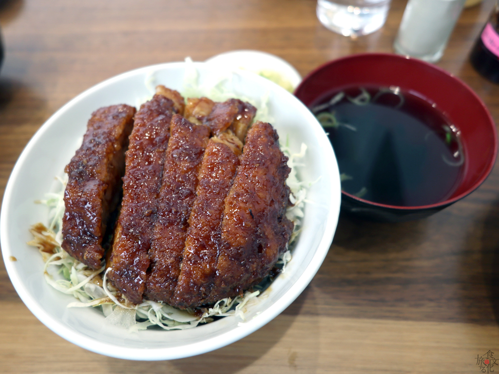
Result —
<instances>
[{"instance_id":1,"label":"rightmost sauce-glazed cutlet slice, wide with a curved outer edge","mask_svg":"<svg viewBox=\"0 0 499 374\"><path fill-rule=\"evenodd\" d=\"M225 201L214 302L257 284L286 251L293 223L286 218L290 169L268 123L248 132L234 184Z\"/></svg>"}]
</instances>

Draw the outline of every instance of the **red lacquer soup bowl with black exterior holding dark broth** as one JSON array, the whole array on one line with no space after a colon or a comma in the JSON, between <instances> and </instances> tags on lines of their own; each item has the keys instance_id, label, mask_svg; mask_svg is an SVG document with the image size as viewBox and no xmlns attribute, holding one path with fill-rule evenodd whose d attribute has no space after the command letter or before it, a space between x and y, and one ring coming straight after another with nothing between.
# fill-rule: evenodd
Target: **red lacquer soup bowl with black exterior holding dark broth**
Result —
<instances>
[{"instance_id":1,"label":"red lacquer soup bowl with black exterior holding dark broth","mask_svg":"<svg viewBox=\"0 0 499 374\"><path fill-rule=\"evenodd\" d=\"M342 190L343 210L388 221L422 218L473 192L492 171L498 152L496 125L477 94L454 75L415 58L357 54L318 67L303 79L295 95L312 109L328 94L353 86L396 87L434 103L460 132L464 164L453 191L439 201L417 206L397 205L369 201ZM339 155L337 158L339 160Z\"/></svg>"}]
</instances>

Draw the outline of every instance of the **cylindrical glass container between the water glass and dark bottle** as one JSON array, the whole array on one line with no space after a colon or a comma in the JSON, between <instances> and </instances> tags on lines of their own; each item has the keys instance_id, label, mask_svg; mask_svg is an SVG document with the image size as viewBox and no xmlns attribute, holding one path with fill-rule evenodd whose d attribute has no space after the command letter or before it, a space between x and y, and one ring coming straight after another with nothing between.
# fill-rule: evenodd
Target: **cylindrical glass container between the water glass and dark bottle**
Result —
<instances>
[{"instance_id":1,"label":"cylindrical glass container between the water glass and dark bottle","mask_svg":"<svg viewBox=\"0 0 499 374\"><path fill-rule=\"evenodd\" d=\"M409 0L393 48L395 52L436 62L444 54L466 0Z\"/></svg>"}]
</instances>

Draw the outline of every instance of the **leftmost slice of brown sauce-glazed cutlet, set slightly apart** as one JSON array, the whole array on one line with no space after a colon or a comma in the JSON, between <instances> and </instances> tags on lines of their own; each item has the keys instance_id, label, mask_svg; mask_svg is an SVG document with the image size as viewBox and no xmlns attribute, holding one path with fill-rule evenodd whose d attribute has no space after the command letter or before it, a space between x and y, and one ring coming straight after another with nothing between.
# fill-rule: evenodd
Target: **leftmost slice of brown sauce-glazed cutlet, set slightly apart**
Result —
<instances>
[{"instance_id":1,"label":"leftmost slice of brown sauce-glazed cutlet, set slightly apart","mask_svg":"<svg viewBox=\"0 0 499 374\"><path fill-rule=\"evenodd\" d=\"M81 147L66 166L62 248L92 269L101 267L102 239L116 208L135 108L112 105L92 113Z\"/></svg>"}]
</instances>

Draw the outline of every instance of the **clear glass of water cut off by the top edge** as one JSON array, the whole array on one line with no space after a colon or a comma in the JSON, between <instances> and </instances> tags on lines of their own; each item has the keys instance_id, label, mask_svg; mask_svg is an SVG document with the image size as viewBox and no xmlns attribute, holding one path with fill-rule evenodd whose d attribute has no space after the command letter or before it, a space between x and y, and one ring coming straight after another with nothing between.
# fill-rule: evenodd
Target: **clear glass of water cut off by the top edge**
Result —
<instances>
[{"instance_id":1,"label":"clear glass of water cut off by the top edge","mask_svg":"<svg viewBox=\"0 0 499 374\"><path fill-rule=\"evenodd\" d=\"M367 35L385 24L391 0L317 0L317 18L345 36Z\"/></svg>"}]
</instances>

